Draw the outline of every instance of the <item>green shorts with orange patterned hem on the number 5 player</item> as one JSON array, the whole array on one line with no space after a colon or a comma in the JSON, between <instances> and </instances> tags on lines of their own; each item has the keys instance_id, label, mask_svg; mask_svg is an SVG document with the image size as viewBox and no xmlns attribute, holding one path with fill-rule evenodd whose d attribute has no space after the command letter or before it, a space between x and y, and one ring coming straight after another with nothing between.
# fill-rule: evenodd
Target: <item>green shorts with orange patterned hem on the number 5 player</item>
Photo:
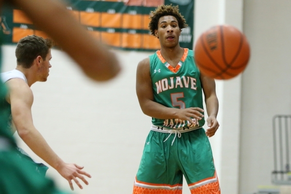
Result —
<instances>
[{"instance_id":1,"label":"green shorts with orange patterned hem on the number 5 player","mask_svg":"<svg viewBox=\"0 0 291 194\"><path fill-rule=\"evenodd\" d=\"M205 130L164 131L147 137L133 194L182 194L183 175L191 194L220 194Z\"/></svg>"}]
</instances>

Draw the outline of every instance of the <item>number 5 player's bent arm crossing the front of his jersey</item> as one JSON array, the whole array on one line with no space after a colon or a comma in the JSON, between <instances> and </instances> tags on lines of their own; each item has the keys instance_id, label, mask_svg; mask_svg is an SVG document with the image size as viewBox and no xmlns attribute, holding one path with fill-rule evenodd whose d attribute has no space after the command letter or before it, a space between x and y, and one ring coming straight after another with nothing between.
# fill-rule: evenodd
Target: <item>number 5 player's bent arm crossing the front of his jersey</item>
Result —
<instances>
[{"instance_id":1,"label":"number 5 player's bent arm crossing the front of his jersey","mask_svg":"<svg viewBox=\"0 0 291 194\"><path fill-rule=\"evenodd\" d=\"M191 118L201 119L203 109L194 107L186 109L170 108L154 102L154 91L150 74L150 60L146 58L137 65L137 98L144 114L157 119L181 119L193 123ZM171 98L171 96L169 96Z\"/></svg>"}]
</instances>

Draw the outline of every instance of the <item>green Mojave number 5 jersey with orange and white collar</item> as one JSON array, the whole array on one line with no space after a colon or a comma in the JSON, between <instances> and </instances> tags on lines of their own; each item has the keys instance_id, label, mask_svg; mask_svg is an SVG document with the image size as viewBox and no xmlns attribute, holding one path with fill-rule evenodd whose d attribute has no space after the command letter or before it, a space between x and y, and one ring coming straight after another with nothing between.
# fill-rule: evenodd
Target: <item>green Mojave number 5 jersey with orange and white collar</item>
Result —
<instances>
[{"instance_id":1,"label":"green Mojave number 5 jersey with orange and white collar","mask_svg":"<svg viewBox=\"0 0 291 194\"><path fill-rule=\"evenodd\" d=\"M149 56L154 102L171 108L203 109L200 71L195 65L193 56L192 50L184 49L184 55L176 68L163 58L160 51ZM168 129L200 128L205 123L204 117L202 120L194 118L192 120L194 124L179 119L152 118L152 123Z\"/></svg>"}]
</instances>

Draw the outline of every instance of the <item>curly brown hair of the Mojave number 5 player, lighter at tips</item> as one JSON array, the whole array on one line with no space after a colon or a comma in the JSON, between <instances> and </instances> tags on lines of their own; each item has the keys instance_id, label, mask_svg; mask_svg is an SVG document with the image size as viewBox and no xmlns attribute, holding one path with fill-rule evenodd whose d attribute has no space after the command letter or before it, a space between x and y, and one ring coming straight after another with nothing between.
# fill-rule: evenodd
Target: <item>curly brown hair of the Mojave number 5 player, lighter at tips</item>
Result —
<instances>
[{"instance_id":1,"label":"curly brown hair of the Mojave number 5 player, lighter at tips","mask_svg":"<svg viewBox=\"0 0 291 194\"><path fill-rule=\"evenodd\" d=\"M178 26L180 29L187 27L186 19L184 16L181 15L179 12L178 5L172 6L172 5L160 5L158 6L154 11L151 11L150 15L150 23L149 23L149 29L154 35L154 30L157 30L158 28L158 21L163 16L173 16L178 20Z\"/></svg>"}]
</instances>

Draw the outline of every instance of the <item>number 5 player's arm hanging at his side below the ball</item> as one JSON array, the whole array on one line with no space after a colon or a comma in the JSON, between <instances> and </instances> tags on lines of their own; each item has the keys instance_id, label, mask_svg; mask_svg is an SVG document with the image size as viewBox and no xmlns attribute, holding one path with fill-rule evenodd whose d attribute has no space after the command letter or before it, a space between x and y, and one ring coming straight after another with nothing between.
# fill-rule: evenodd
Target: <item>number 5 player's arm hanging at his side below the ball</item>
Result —
<instances>
[{"instance_id":1,"label":"number 5 player's arm hanging at his side below the ball","mask_svg":"<svg viewBox=\"0 0 291 194\"><path fill-rule=\"evenodd\" d=\"M208 115L207 125L209 128L206 130L206 135L212 137L219 127L219 123L216 120L218 113L218 99L215 91L215 81L202 73L200 74L200 80L205 95L206 111Z\"/></svg>"}]
</instances>

